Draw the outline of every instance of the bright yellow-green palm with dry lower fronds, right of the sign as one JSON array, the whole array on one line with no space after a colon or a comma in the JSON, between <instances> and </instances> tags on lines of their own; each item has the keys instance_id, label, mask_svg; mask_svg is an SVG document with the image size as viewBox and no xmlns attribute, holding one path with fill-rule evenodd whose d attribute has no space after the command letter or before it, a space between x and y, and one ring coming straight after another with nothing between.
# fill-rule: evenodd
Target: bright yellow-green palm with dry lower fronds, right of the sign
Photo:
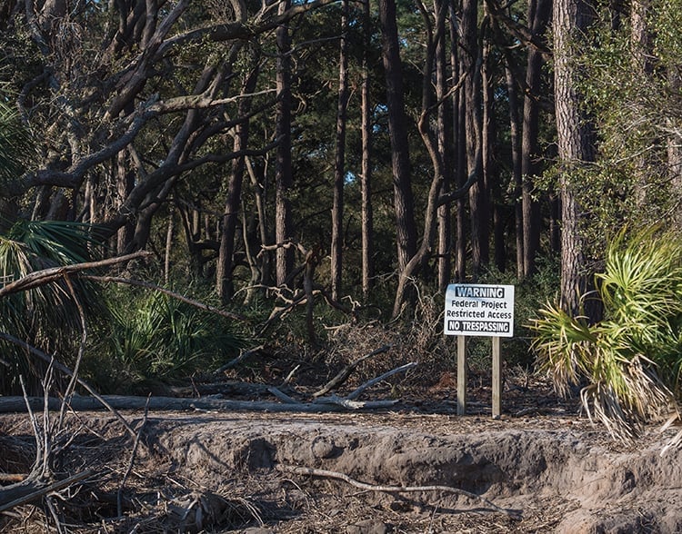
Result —
<instances>
[{"instance_id":1,"label":"bright yellow-green palm with dry lower fronds, right of the sign","mask_svg":"<svg viewBox=\"0 0 682 534\"><path fill-rule=\"evenodd\" d=\"M630 439L679 397L682 241L656 228L621 231L596 276L604 319L589 324L547 303L531 325L542 371L566 394L582 385L588 415ZM589 298L586 295L584 298Z\"/></svg>"}]
</instances>

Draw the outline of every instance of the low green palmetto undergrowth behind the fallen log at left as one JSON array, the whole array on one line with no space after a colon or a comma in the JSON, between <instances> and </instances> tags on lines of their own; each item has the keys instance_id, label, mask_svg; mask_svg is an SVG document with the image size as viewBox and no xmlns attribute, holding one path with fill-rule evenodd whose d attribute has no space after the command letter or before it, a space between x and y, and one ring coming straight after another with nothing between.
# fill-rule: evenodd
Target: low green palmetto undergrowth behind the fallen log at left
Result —
<instances>
[{"instance_id":1,"label":"low green palmetto undergrowth behind the fallen log at left","mask_svg":"<svg viewBox=\"0 0 682 534\"><path fill-rule=\"evenodd\" d=\"M215 370L245 344L226 318L163 293L126 287L110 292L108 301L111 321L92 347L100 361L85 366L103 391L139 392Z\"/></svg>"}]
</instances>

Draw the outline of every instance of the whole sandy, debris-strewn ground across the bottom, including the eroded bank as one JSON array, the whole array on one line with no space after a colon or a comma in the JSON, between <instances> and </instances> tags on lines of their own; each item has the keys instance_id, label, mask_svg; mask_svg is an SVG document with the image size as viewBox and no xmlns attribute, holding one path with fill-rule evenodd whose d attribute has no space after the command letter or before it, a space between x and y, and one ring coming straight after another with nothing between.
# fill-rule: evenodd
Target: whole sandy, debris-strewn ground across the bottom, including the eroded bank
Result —
<instances>
[{"instance_id":1,"label":"whole sandy, debris-strewn ground across the bottom, including the eroded bank","mask_svg":"<svg viewBox=\"0 0 682 534\"><path fill-rule=\"evenodd\" d=\"M575 399L522 375L505 381L497 420L489 384L474 375L467 414L457 416L453 376L436 378L381 410L121 410L139 440L106 411L67 413L52 435L52 469L89 476L55 492L51 511L44 500L0 513L0 530L682 531L682 450L660 454L676 430L611 440ZM222 393L234 384L224 381ZM379 384L372 398L395 390ZM50 417L54 425L58 414ZM30 469L27 414L0 415L0 450L0 474Z\"/></svg>"}]
</instances>

